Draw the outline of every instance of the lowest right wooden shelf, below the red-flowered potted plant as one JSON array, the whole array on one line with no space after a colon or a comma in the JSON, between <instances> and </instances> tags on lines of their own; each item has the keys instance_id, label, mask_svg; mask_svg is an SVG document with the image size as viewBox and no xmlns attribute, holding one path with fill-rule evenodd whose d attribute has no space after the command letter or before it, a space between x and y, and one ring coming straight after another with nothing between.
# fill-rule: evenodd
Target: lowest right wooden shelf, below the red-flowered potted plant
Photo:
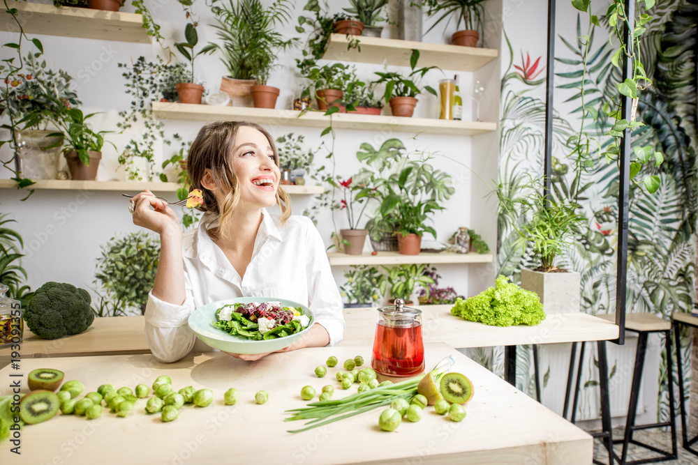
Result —
<instances>
[{"instance_id":1,"label":"lowest right wooden shelf, below the red-flowered potted plant","mask_svg":"<svg viewBox=\"0 0 698 465\"><path fill-rule=\"evenodd\" d=\"M493 263L492 254L455 254L449 252L422 252L419 255L402 255L399 252L364 252L361 255L348 255L344 252L327 254L331 266L348 265L402 265L402 264L486 264Z\"/></svg>"}]
</instances>

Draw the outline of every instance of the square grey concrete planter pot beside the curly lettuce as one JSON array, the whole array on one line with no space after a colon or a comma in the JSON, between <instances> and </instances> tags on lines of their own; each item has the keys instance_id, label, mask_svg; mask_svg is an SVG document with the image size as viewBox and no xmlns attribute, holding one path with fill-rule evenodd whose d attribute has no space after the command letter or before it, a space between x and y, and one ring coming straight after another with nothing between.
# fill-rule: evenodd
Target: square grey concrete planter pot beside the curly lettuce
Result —
<instances>
[{"instance_id":1,"label":"square grey concrete planter pot beside the curly lettuce","mask_svg":"<svg viewBox=\"0 0 698 465\"><path fill-rule=\"evenodd\" d=\"M579 312L579 273L541 273L523 268L521 288L538 294L546 314Z\"/></svg>"}]
</instances>

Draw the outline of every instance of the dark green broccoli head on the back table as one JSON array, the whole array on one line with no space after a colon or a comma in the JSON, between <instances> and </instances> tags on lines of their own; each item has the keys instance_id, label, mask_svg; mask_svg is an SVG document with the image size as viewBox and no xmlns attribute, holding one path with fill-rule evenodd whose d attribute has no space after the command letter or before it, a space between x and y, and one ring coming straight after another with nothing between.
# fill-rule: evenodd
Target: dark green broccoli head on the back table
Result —
<instances>
[{"instance_id":1,"label":"dark green broccoli head on the back table","mask_svg":"<svg viewBox=\"0 0 698 465\"><path fill-rule=\"evenodd\" d=\"M24 310L24 321L43 339L82 333L94 321L87 291L65 282L47 282L36 289Z\"/></svg>"}]
</instances>

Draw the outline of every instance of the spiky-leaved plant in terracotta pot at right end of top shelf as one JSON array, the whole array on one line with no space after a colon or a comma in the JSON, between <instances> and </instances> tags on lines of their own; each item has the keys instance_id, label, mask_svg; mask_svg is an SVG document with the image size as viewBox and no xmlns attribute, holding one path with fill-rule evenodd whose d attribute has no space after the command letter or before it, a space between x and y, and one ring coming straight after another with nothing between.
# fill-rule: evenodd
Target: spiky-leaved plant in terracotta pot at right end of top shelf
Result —
<instances>
[{"instance_id":1,"label":"spiky-leaved plant in terracotta pot at right end of top shelf","mask_svg":"<svg viewBox=\"0 0 698 465\"><path fill-rule=\"evenodd\" d=\"M455 17L456 29L461 25L461 21L466 29L456 30L451 36L451 42L454 45L476 47L477 40L480 38L480 33L477 30L482 26L482 18L484 17L483 1L484 0L424 0L424 5L429 8L426 10L426 15L430 17L440 15L438 20L431 25L427 32L431 31L431 29L436 27L437 24L447 17Z\"/></svg>"}]
</instances>

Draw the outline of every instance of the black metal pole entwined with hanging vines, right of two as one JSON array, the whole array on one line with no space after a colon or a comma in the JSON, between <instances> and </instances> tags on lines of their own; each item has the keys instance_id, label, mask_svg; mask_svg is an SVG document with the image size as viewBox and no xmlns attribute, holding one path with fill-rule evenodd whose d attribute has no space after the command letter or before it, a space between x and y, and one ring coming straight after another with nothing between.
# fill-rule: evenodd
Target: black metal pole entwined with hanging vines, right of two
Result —
<instances>
[{"instance_id":1,"label":"black metal pole entwined with hanging vines, right of two","mask_svg":"<svg viewBox=\"0 0 698 465\"><path fill-rule=\"evenodd\" d=\"M623 31L623 42L632 47L632 29L634 28L634 0L625 0L625 15L628 24ZM623 54L623 82L632 77L632 62ZM630 121L632 113L632 100L628 96L621 96L621 118ZM628 206L630 205L630 153L632 153L632 135L630 129L623 131L620 153L618 154L618 250L616 268L616 325L618 325L618 339L616 344L625 344L625 287L628 275Z\"/></svg>"}]
</instances>

